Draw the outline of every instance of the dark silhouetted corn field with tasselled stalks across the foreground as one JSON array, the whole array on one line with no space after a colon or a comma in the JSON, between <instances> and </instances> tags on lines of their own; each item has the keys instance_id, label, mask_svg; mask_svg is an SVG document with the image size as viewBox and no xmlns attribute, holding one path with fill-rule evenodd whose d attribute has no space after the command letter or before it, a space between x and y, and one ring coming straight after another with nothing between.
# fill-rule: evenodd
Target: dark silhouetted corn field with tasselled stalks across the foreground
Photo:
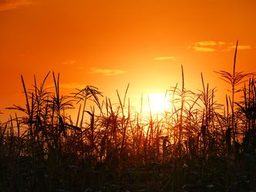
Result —
<instances>
[{"instance_id":1,"label":"dark silhouetted corn field with tasselled stalks across the foreground","mask_svg":"<svg viewBox=\"0 0 256 192\"><path fill-rule=\"evenodd\" d=\"M134 113L119 93L118 105L99 103L93 86L61 96L59 76L54 91L49 74L32 89L22 78L25 107L11 109L24 115L0 125L0 191L255 191L256 87L235 58L233 72L217 72L231 85L225 105L202 76L197 93L184 81L171 87L172 109L158 118Z\"/></svg>"}]
</instances>

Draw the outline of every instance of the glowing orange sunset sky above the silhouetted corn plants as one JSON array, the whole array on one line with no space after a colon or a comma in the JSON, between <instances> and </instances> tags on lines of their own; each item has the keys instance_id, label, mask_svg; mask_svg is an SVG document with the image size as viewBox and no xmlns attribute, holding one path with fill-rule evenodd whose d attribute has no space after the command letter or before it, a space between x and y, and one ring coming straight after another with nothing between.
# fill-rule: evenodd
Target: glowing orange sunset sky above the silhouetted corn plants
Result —
<instances>
[{"instance_id":1,"label":"glowing orange sunset sky above the silhouetted corn plants","mask_svg":"<svg viewBox=\"0 0 256 192\"><path fill-rule=\"evenodd\" d=\"M181 80L201 89L200 72L223 99L214 70L255 72L254 0L0 0L0 111L25 105L27 86L59 72L62 93L92 85L130 103ZM52 79L49 79L49 84ZM218 94L218 93L217 93Z\"/></svg>"}]
</instances>

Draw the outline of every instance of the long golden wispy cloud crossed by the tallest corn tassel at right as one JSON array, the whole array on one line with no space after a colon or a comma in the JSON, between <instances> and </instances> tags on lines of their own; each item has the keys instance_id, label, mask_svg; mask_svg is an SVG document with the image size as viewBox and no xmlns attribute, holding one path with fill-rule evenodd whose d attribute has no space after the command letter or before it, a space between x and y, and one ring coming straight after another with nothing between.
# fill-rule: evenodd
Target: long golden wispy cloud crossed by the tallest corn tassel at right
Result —
<instances>
[{"instance_id":1,"label":"long golden wispy cloud crossed by the tallest corn tassel at right","mask_svg":"<svg viewBox=\"0 0 256 192\"><path fill-rule=\"evenodd\" d=\"M192 43L188 49L194 52L227 52L235 49L234 43L217 42L217 41L202 41ZM252 49L251 45L238 45L237 49Z\"/></svg>"}]
</instances>

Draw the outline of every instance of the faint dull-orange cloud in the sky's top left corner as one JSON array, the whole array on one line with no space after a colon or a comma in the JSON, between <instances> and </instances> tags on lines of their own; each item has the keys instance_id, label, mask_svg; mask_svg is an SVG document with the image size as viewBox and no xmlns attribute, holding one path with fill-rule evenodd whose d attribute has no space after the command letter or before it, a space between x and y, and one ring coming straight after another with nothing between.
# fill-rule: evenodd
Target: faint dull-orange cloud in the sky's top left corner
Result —
<instances>
[{"instance_id":1,"label":"faint dull-orange cloud in the sky's top left corner","mask_svg":"<svg viewBox=\"0 0 256 192\"><path fill-rule=\"evenodd\" d=\"M0 0L0 11L8 11L17 8L24 8L29 5L36 5L39 2L32 0Z\"/></svg>"}]
</instances>

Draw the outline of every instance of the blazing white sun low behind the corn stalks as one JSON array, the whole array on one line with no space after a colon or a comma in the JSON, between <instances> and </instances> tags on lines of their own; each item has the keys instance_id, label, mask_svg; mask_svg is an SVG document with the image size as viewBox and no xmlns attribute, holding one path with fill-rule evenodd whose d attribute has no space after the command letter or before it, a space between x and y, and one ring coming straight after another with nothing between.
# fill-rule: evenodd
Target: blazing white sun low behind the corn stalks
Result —
<instances>
[{"instance_id":1,"label":"blazing white sun low behind the corn stalks","mask_svg":"<svg viewBox=\"0 0 256 192\"><path fill-rule=\"evenodd\" d=\"M144 112L152 115L162 114L170 109L170 98L164 93L150 93L148 96L147 106L144 107Z\"/></svg>"}]
</instances>

